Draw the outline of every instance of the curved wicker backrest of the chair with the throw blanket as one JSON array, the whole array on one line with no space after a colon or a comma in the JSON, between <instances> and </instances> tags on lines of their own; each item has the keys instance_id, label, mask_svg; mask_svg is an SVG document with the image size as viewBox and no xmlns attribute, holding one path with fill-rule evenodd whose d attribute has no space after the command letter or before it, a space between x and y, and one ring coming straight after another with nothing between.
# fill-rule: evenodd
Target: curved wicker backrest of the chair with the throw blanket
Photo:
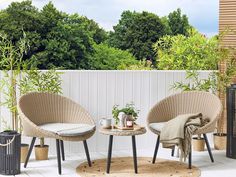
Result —
<instances>
[{"instance_id":1,"label":"curved wicker backrest of the chair with the throw blanket","mask_svg":"<svg viewBox=\"0 0 236 177\"><path fill-rule=\"evenodd\" d=\"M220 99L209 92L188 91L171 95L156 105L148 114L148 123L166 122L180 114L202 113L213 121L222 111Z\"/></svg>"}]
</instances>

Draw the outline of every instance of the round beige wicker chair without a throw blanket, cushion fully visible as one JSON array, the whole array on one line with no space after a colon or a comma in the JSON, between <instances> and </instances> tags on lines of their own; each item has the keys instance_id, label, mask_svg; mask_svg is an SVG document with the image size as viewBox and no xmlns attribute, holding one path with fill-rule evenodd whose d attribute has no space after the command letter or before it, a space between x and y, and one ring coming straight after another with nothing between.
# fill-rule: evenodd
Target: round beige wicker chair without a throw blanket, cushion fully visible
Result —
<instances>
[{"instance_id":1,"label":"round beige wicker chair without a throw blanket, cushion fully visible","mask_svg":"<svg viewBox=\"0 0 236 177\"><path fill-rule=\"evenodd\" d=\"M83 141L87 161L91 166L86 140L95 132L95 123L89 113L72 100L50 93L29 93L18 102L18 111L22 120L23 134L33 137L24 164L26 168L36 137L55 138L57 148L58 173L61 174L61 155L65 160L63 141ZM50 131L44 125L61 128L64 125L85 125L84 128L72 129L69 134L62 131ZM89 127L89 128L88 128ZM61 152L60 152L61 151Z\"/></svg>"}]
</instances>

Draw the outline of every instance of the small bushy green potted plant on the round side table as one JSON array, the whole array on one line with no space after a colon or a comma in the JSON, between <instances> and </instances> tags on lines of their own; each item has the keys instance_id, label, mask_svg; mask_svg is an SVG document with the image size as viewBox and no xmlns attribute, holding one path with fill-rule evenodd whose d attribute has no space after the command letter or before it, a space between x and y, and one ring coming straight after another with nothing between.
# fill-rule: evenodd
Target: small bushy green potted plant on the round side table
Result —
<instances>
[{"instance_id":1,"label":"small bushy green potted plant on the round side table","mask_svg":"<svg viewBox=\"0 0 236 177\"><path fill-rule=\"evenodd\" d=\"M128 103L124 108L114 105L112 115L116 126L132 128L137 120L139 110L135 108L134 103Z\"/></svg>"}]
</instances>

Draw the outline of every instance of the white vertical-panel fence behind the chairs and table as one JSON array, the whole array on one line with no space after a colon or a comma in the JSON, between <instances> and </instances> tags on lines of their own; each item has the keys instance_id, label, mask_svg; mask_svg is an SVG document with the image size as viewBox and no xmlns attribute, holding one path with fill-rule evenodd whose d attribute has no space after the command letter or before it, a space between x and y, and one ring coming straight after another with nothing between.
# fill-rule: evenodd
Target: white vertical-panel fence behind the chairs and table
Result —
<instances>
[{"instance_id":1,"label":"white vertical-panel fence behind the chairs and table","mask_svg":"<svg viewBox=\"0 0 236 177\"><path fill-rule=\"evenodd\" d=\"M146 125L149 109L158 101L176 92L173 83L185 80L185 71L63 71L63 95L86 108L93 116L97 129L100 118L111 117L114 104L120 106L134 102L140 110L138 123ZM200 71L201 78L207 78L209 71ZM1 117L9 115L4 108ZM149 131L137 136L137 147L154 147L156 137ZM29 143L29 138L23 142ZM55 140L47 140L50 153L55 152ZM96 134L88 140L91 152L107 150L108 137ZM129 137L115 137L114 150L131 148ZM81 142L65 142L66 153L84 152Z\"/></svg>"}]
</instances>

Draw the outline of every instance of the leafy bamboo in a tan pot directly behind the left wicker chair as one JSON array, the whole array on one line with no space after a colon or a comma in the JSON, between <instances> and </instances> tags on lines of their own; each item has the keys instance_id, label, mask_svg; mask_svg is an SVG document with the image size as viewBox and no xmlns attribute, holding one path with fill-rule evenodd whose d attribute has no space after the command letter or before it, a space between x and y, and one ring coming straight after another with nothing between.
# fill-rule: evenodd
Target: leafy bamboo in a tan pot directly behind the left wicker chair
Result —
<instances>
[{"instance_id":1,"label":"leafy bamboo in a tan pot directly behind the left wicker chair","mask_svg":"<svg viewBox=\"0 0 236 177\"><path fill-rule=\"evenodd\" d=\"M49 92L55 94L62 93L62 80L60 72L55 70L39 71L37 69L26 70L22 73L20 81L20 92ZM48 145L44 144L44 138L40 138L40 144L35 145L36 160L48 159Z\"/></svg>"}]
</instances>

